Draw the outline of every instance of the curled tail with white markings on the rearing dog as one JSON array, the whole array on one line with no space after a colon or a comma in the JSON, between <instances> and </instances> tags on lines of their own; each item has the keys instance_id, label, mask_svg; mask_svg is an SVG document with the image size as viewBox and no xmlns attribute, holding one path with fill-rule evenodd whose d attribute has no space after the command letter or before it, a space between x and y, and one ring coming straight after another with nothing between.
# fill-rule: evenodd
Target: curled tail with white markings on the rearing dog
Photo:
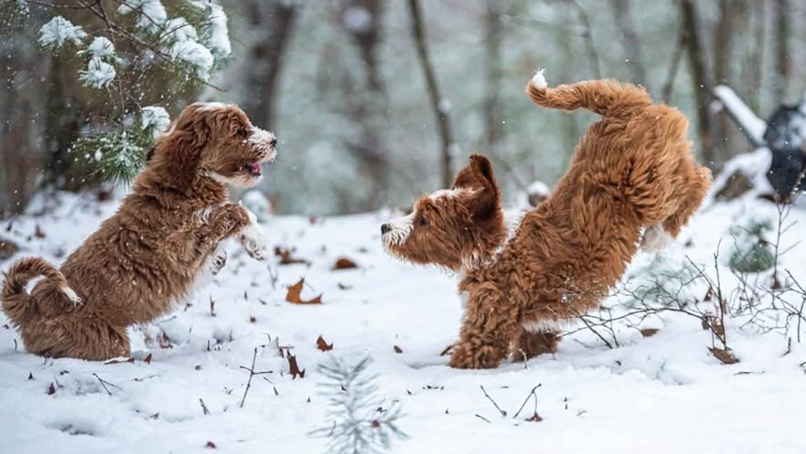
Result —
<instances>
[{"instance_id":1,"label":"curled tail with white markings on the rearing dog","mask_svg":"<svg viewBox=\"0 0 806 454\"><path fill-rule=\"evenodd\" d=\"M20 327L26 323L33 314L31 295L25 289L28 281L39 276L43 276L52 285L59 289L73 305L81 304L81 298L69 287L67 279L55 266L49 264L40 257L29 257L17 260L15 264L5 273L6 279L2 283L2 309L15 327Z\"/></svg>"}]
</instances>

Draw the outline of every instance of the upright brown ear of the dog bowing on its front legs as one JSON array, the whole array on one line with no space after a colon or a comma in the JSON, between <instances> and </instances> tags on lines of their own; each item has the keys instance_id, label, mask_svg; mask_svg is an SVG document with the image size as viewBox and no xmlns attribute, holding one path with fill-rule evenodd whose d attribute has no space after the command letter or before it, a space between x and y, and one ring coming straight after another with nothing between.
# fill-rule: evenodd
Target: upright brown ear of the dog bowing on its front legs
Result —
<instances>
[{"instance_id":1,"label":"upright brown ear of the dog bowing on its front legs","mask_svg":"<svg viewBox=\"0 0 806 454\"><path fill-rule=\"evenodd\" d=\"M456 175L453 189L459 188L473 190L469 197L474 218L488 219L501 209L501 194L492 172L492 163L486 156L470 156L470 163Z\"/></svg>"}]
</instances>

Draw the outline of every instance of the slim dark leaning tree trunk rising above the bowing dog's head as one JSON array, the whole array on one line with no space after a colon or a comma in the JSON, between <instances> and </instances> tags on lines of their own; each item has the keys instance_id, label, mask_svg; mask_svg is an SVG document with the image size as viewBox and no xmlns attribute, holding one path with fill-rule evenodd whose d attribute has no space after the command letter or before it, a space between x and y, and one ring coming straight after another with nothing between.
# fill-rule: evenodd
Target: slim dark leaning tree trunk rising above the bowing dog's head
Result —
<instances>
[{"instance_id":1,"label":"slim dark leaning tree trunk rising above the bowing dog's head","mask_svg":"<svg viewBox=\"0 0 806 454\"><path fill-rule=\"evenodd\" d=\"M439 139L442 142L442 186L450 187L453 180L453 169L451 163L451 147L453 146L453 135L451 133L451 117L448 115L447 102L444 102L439 93L437 77L434 75L434 66L426 48L426 32L424 31L422 14L418 0L409 0L409 13L411 15L411 32L414 37L414 44L420 58L422 73L426 77L428 96L431 108L437 121Z\"/></svg>"}]
</instances>

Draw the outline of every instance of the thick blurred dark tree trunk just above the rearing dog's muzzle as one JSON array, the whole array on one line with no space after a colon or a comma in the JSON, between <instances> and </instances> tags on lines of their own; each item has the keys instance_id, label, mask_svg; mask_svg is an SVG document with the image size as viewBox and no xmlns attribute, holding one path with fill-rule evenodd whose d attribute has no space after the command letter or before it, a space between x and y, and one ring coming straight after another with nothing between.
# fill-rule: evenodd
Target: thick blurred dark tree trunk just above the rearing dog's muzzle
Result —
<instances>
[{"instance_id":1,"label":"thick blurred dark tree trunk just above the rearing dog's muzzle","mask_svg":"<svg viewBox=\"0 0 806 454\"><path fill-rule=\"evenodd\" d=\"M240 106L252 123L260 127L273 127L276 90L283 56L293 32L297 6L293 2L251 0L247 4L247 11L251 30L255 33L265 31L265 37L247 47Z\"/></svg>"}]
</instances>

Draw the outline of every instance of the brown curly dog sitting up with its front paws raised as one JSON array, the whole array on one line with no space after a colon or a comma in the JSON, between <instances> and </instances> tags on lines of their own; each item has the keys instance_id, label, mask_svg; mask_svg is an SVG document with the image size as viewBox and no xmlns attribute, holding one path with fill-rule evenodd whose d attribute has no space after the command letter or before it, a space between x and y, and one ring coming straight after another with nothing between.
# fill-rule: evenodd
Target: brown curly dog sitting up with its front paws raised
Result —
<instances>
[{"instance_id":1,"label":"brown curly dog sitting up with its front paws raised","mask_svg":"<svg viewBox=\"0 0 806 454\"><path fill-rule=\"evenodd\" d=\"M254 215L227 203L227 185L250 187L276 156L272 133L237 106L195 103L157 140L117 213L61 269L41 258L6 272L2 309L29 352L104 360L129 355L127 327L171 310L206 270L226 260L223 239L239 236L268 257ZM44 276L27 294L26 285Z\"/></svg>"}]
</instances>

